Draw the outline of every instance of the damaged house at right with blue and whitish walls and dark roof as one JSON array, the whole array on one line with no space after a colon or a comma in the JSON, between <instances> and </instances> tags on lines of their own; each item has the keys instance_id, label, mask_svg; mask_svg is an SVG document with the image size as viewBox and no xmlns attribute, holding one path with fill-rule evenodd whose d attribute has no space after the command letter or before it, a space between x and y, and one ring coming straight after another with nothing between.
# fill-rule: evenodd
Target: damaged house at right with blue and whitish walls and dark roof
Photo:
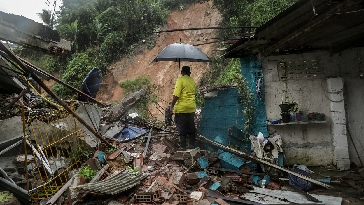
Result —
<instances>
[{"instance_id":1,"label":"damaged house at right with blue and whitish walls and dark roof","mask_svg":"<svg viewBox=\"0 0 364 205\"><path fill-rule=\"evenodd\" d=\"M334 165L341 170L350 169L351 162L363 166L357 104L363 98L362 9L363 1L300 0L257 28L251 38L228 47L222 56L240 58L241 73L257 108L252 133L280 135L290 165ZM242 114L235 89L217 87L204 93L201 134L234 140L225 136L225 130ZM300 104L298 111L303 114L325 114L324 120L270 123L281 118L278 105L285 97ZM243 126L244 121L238 119L237 125Z\"/></svg>"}]
</instances>

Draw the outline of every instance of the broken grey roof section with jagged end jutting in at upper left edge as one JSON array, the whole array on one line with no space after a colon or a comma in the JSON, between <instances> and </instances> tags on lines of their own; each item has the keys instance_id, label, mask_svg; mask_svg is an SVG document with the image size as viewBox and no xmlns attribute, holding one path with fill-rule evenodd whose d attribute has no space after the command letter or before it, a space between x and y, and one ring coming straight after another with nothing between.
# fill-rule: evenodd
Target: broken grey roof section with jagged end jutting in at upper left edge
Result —
<instances>
[{"instance_id":1,"label":"broken grey roof section with jagged end jutting in at upper left edge","mask_svg":"<svg viewBox=\"0 0 364 205\"><path fill-rule=\"evenodd\" d=\"M0 11L0 39L53 55L71 50L71 42L60 38L58 31L15 14Z\"/></svg>"}]
</instances>

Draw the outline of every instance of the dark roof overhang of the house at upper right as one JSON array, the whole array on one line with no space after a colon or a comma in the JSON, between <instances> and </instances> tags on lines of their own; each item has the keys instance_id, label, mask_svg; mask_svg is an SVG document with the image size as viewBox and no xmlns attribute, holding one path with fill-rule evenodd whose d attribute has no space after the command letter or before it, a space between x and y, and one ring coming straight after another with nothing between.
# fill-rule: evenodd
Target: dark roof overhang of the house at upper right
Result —
<instances>
[{"instance_id":1,"label":"dark roof overhang of the house at upper right","mask_svg":"<svg viewBox=\"0 0 364 205\"><path fill-rule=\"evenodd\" d=\"M316 13L316 15L315 15ZM340 13L340 14L338 14ZM364 45L364 0L300 0L226 49L225 58L331 50Z\"/></svg>"}]
</instances>

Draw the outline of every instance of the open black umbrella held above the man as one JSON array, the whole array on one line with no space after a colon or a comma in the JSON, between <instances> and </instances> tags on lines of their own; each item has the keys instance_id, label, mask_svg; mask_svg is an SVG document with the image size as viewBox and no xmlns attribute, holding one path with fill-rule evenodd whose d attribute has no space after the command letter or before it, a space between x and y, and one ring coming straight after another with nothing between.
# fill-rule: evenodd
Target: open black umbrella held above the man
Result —
<instances>
[{"instance_id":1,"label":"open black umbrella held above the man","mask_svg":"<svg viewBox=\"0 0 364 205\"><path fill-rule=\"evenodd\" d=\"M172 43L166 46L162 52L154 58L153 62L174 61L178 62L178 71L181 61L210 62L210 58L197 47L185 43ZM178 72L179 77L179 72Z\"/></svg>"}]
</instances>

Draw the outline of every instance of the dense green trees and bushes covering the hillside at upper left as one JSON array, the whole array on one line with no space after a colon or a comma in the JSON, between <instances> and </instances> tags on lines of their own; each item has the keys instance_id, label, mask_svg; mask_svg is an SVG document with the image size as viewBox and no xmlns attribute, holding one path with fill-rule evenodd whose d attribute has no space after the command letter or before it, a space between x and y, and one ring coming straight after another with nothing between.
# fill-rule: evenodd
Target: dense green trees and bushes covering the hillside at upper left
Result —
<instances>
[{"instance_id":1,"label":"dense green trees and bushes covering the hillside at upper left","mask_svg":"<svg viewBox=\"0 0 364 205\"><path fill-rule=\"evenodd\" d=\"M51 74L62 75L62 80L80 88L86 74L94 67L103 73L110 63L123 54L133 52L135 44L152 35L147 48L155 46L151 34L167 23L170 9L201 0L61 0L60 11L56 1L46 2L47 9L37 13L42 22L59 32L61 38L73 42L72 50L53 57L19 47L15 51L27 61ZM57 2L59 3L59 1ZM49 8L48 8L49 7ZM71 90L56 85L54 91L65 97Z\"/></svg>"}]
</instances>

